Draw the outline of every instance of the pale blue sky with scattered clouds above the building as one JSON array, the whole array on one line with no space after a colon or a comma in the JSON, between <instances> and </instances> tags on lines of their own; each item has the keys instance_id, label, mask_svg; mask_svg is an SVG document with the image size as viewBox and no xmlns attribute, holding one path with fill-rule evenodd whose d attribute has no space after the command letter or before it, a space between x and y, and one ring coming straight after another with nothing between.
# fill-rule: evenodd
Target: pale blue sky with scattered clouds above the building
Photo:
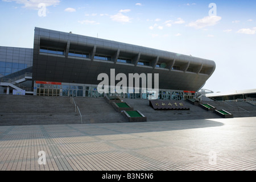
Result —
<instances>
[{"instance_id":1,"label":"pale blue sky with scattered clouds above the building","mask_svg":"<svg viewBox=\"0 0 256 182\"><path fill-rule=\"evenodd\" d=\"M34 27L72 31L214 60L204 86L214 92L256 89L255 9L256 1L2 0L0 46L32 48Z\"/></svg>"}]
</instances>

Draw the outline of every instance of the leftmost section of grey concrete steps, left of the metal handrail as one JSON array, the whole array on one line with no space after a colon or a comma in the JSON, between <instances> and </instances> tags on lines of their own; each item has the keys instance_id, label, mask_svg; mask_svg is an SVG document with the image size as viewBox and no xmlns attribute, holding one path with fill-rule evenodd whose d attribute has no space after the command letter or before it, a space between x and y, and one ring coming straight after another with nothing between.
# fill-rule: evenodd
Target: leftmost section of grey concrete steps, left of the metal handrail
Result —
<instances>
[{"instance_id":1,"label":"leftmost section of grey concrete steps, left of the metal handrail","mask_svg":"<svg viewBox=\"0 0 256 182\"><path fill-rule=\"evenodd\" d=\"M81 123L69 97L0 95L0 126Z\"/></svg>"}]
</instances>

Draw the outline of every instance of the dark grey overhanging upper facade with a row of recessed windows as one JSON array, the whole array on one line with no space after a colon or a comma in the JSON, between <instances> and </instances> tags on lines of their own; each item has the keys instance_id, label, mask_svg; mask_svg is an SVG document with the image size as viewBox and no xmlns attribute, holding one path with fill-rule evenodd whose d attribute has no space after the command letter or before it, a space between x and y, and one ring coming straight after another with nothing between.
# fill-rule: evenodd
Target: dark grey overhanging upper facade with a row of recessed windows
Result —
<instances>
[{"instance_id":1,"label":"dark grey overhanging upper facade with a row of recessed windows","mask_svg":"<svg viewBox=\"0 0 256 182\"><path fill-rule=\"evenodd\" d=\"M64 52L63 55L42 53L40 46ZM68 56L69 51L74 51L73 56ZM87 52L90 57L75 57L76 51ZM81 56L79 54L77 56ZM132 63L118 63L118 57L131 59ZM152 73L152 81L154 73L158 73L160 89L197 91L214 72L215 63L152 48L35 28L33 67L33 80L98 85L100 73L110 78L110 69L115 69L115 75L125 73L127 78L129 73Z\"/></svg>"}]
</instances>

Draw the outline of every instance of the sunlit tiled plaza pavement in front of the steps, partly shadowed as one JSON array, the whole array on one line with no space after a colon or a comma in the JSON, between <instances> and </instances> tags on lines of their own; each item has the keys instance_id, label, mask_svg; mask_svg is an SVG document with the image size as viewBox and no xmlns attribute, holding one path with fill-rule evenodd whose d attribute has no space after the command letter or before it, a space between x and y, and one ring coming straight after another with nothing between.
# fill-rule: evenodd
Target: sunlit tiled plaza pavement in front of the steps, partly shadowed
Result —
<instances>
[{"instance_id":1,"label":"sunlit tiled plaza pavement in front of the steps, partly shadowed","mask_svg":"<svg viewBox=\"0 0 256 182\"><path fill-rule=\"evenodd\" d=\"M255 169L256 117L0 126L1 171Z\"/></svg>"}]
</instances>

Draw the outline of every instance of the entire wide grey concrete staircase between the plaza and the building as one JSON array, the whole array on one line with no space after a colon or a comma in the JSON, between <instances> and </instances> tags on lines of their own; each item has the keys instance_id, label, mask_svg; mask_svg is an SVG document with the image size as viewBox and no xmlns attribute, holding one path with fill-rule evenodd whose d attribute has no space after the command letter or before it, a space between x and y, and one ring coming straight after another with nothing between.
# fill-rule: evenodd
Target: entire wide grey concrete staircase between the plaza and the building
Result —
<instances>
[{"instance_id":1,"label":"entire wide grey concrete staircase between the plaza and the building","mask_svg":"<svg viewBox=\"0 0 256 182\"><path fill-rule=\"evenodd\" d=\"M127 122L126 118L115 111L104 98L74 97L74 100L79 106L82 123ZM147 121L221 118L213 111L206 111L189 102L185 104L190 110L154 110L148 100L123 101L134 107L134 110L141 111L147 117ZM204 104L215 106L218 110L224 109L234 117L256 116L256 107L246 102L206 101ZM79 113L75 113L70 97L0 95L0 126L72 123L80 124L81 118Z\"/></svg>"}]
</instances>

